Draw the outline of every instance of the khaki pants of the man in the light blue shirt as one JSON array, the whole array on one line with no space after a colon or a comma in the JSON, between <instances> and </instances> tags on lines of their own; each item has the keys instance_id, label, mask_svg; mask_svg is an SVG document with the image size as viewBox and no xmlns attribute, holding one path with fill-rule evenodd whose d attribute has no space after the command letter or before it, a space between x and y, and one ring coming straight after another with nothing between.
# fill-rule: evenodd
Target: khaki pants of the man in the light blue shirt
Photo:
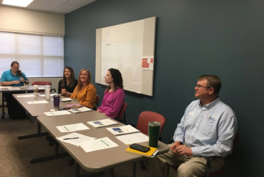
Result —
<instances>
[{"instance_id":1,"label":"khaki pants of the man in the light blue shirt","mask_svg":"<svg viewBox=\"0 0 264 177\"><path fill-rule=\"evenodd\" d=\"M172 144L168 146L172 146ZM172 166L179 166L178 171L176 171L177 177L199 177L206 173L206 161L207 159L202 157L188 157L186 155L177 156L170 150L167 153L149 159L149 170L151 177L163 177L165 176L165 168L167 164L169 164ZM211 162L210 171L217 171L221 169L223 165L224 158L215 158Z\"/></svg>"}]
</instances>

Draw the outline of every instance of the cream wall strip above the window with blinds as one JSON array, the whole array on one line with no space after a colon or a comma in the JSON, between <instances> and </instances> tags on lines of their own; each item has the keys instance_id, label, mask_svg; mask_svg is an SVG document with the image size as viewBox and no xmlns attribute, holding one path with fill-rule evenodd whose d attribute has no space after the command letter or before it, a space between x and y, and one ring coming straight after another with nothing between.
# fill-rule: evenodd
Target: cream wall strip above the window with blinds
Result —
<instances>
[{"instance_id":1,"label":"cream wall strip above the window with blinds","mask_svg":"<svg viewBox=\"0 0 264 177\"><path fill-rule=\"evenodd\" d=\"M65 35L65 15L0 6L0 31Z\"/></svg>"}]
</instances>

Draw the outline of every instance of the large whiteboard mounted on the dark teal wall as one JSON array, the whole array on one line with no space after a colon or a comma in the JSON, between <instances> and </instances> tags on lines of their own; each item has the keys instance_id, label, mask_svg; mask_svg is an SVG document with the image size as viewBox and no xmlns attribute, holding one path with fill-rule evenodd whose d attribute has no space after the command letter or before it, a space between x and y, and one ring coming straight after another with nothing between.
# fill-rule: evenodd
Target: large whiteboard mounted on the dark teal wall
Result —
<instances>
[{"instance_id":1,"label":"large whiteboard mounted on the dark teal wall","mask_svg":"<svg viewBox=\"0 0 264 177\"><path fill-rule=\"evenodd\" d=\"M95 82L104 84L110 68L119 69L124 90L153 95L156 17L96 31Z\"/></svg>"}]
</instances>

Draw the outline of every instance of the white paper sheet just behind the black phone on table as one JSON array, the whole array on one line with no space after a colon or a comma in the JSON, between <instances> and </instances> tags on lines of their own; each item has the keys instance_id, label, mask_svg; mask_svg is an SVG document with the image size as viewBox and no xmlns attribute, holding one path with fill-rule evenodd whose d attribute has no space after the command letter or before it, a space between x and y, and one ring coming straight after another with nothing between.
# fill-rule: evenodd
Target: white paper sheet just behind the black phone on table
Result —
<instances>
[{"instance_id":1,"label":"white paper sheet just behind the black phone on table","mask_svg":"<svg viewBox=\"0 0 264 177\"><path fill-rule=\"evenodd\" d=\"M149 141L149 137L143 133L132 133L129 135L120 135L116 137L121 142L124 142L124 144L133 144L133 143L139 143L139 142L147 142Z\"/></svg>"}]
</instances>

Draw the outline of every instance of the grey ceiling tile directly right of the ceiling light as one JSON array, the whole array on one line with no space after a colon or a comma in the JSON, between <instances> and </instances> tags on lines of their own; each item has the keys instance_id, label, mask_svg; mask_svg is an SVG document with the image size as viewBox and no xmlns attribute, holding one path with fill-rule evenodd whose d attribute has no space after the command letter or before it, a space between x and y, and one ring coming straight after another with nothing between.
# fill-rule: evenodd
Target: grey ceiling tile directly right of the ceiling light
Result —
<instances>
[{"instance_id":1,"label":"grey ceiling tile directly right of the ceiling light","mask_svg":"<svg viewBox=\"0 0 264 177\"><path fill-rule=\"evenodd\" d=\"M34 9L34 10L50 11L50 10L53 10L54 8L57 8L61 4L62 3L60 2L51 1L51 0L34 0L26 8Z\"/></svg>"}]
</instances>

